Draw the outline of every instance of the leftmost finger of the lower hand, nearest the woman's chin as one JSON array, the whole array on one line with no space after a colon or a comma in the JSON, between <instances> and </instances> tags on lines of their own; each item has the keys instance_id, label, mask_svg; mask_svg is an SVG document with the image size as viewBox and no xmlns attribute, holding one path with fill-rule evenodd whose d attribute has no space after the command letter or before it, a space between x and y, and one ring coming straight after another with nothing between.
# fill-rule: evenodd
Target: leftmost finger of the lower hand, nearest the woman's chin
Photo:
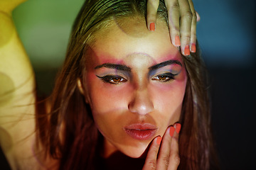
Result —
<instances>
[{"instance_id":1,"label":"leftmost finger of the lower hand, nearest the woman's chin","mask_svg":"<svg viewBox=\"0 0 256 170\"><path fill-rule=\"evenodd\" d=\"M155 170L156 169L156 159L157 154L159 152L159 146L161 144L161 137L158 136L154 138L151 146L149 148L149 152L146 155L145 164L142 170Z\"/></svg>"}]
</instances>

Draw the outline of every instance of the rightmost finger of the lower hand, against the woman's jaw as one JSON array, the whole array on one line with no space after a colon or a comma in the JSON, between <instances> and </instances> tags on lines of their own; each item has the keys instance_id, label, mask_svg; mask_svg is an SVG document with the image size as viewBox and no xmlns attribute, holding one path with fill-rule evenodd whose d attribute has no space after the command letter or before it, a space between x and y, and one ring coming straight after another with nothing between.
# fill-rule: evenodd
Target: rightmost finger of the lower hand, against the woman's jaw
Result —
<instances>
[{"instance_id":1,"label":"rightmost finger of the lower hand, against the woman's jaw","mask_svg":"<svg viewBox=\"0 0 256 170\"><path fill-rule=\"evenodd\" d=\"M180 157L178 154L178 133L181 130L181 124L176 123L174 125L174 128L174 135L171 137L171 149L168 170L176 170L178 168L178 165L180 164Z\"/></svg>"}]
</instances>

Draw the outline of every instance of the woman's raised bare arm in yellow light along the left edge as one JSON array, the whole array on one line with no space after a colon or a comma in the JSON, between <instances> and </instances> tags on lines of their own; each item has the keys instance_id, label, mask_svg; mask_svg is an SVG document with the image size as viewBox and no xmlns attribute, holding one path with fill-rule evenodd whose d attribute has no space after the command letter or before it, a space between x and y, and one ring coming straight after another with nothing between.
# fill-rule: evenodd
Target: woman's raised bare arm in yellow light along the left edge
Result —
<instances>
[{"instance_id":1,"label":"woman's raised bare arm in yellow light along the left edge","mask_svg":"<svg viewBox=\"0 0 256 170\"><path fill-rule=\"evenodd\" d=\"M38 169L34 73L11 16L23 1L0 0L0 145L11 169Z\"/></svg>"}]
</instances>

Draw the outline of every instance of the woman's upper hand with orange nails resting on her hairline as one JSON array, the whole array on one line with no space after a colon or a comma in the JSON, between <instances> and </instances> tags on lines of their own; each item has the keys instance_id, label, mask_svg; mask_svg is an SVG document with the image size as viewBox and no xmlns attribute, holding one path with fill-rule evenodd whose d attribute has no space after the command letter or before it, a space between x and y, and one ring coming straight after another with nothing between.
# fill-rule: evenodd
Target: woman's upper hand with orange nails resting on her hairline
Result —
<instances>
[{"instance_id":1,"label":"woman's upper hand with orange nails resting on her hairline","mask_svg":"<svg viewBox=\"0 0 256 170\"><path fill-rule=\"evenodd\" d=\"M196 21L200 17L196 13L192 0L164 0L168 11L168 23L171 42L174 46L181 46L183 55L196 52ZM154 31L156 26L156 12L159 0L148 0L146 8L146 25Z\"/></svg>"}]
</instances>

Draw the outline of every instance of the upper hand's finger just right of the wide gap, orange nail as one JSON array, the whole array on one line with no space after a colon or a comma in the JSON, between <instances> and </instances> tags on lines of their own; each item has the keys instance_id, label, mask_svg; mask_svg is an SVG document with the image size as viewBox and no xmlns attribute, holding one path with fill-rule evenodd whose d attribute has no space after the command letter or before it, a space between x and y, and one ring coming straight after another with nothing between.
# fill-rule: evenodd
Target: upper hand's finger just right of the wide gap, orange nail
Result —
<instances>
[{"instance_id":1,"label":"upper hand's finger just right of the wide gap, orange nail","mask_svg":"<svg viewBox=\"0 0 256 170\"><path fill-rule=\"evenodd\" d=\"M180 9L177 0L165 1L166 9L168 11L169 20L169 33L171 37L171 42L174 46L178 47L181 45L180 40L180 28L179 28L179 18Z\"/></svg>"}]
</instances>

